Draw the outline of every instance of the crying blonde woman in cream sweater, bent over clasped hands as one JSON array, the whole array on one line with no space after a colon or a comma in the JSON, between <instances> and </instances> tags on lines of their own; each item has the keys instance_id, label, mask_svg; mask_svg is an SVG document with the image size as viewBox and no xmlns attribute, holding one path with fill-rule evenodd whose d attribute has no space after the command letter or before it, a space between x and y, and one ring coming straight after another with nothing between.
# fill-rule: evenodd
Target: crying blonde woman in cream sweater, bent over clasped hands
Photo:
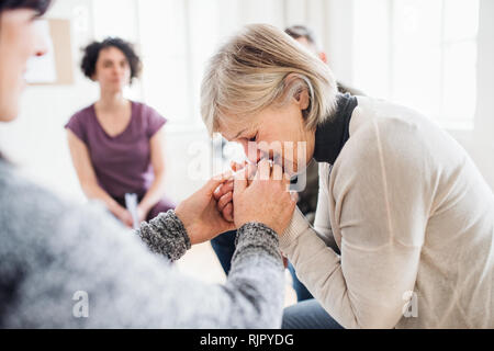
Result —
<instances>
[{"instance_id":1,"label":"crying blonde woman in cream sweater, bent over clasped hands","mask_svg":"<svg viewBox=\"0 0 494 351\"><path fill-rule=\"evenodd\" d=\"M319 162L314 227L296 211L280 235L317 302L289 307L285 327L494 327L494 196L429 118L338 94L328 67L269 25L214 55L202 114L251 162L271 157L292 173ZM238 210L232 186L217 192L225 218Z\"/></svg>"}]
</instances>

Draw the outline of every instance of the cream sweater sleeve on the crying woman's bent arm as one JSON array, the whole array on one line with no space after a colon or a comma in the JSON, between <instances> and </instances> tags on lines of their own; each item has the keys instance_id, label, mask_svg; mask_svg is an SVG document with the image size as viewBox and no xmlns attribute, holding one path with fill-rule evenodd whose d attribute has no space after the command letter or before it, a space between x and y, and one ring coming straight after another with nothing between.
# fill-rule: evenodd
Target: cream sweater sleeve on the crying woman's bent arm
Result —
<instances>
[{"instance_id":1,"label":"cream sweater sleeve on the crying woman's bent arm","mask_svg":"<svg viewBox=\"0 0 494 351\"><path fill-rule=\"evenodd\" d=\"M314 235L300 213L280 245L301 281L340 325L393 328L415 286L428 217L425 177L412 171L423 168L420 144L413 137L390 143L389 136L383 143L375 121L361 133L358 144L341 152L328 186L341 256Z\"/></svg>"}]
</instances>

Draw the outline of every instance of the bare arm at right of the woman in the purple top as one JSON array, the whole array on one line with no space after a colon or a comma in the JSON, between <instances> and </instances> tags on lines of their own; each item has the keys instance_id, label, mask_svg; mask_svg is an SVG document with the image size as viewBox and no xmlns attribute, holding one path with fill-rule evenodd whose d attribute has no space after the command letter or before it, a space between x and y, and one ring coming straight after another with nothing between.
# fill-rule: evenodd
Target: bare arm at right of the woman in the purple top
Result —
<instances>
[{"instance_id":1,"label":"bare arm at right of the woman in the purple top","mask_svg":"<svg viewBox=\"0 0 494 351\"><path fill-rule=\"evenodd\" d=\"M139 222L146 219L149 211L165 194L165 128L160 128L150 139L150 162L155 179L137 206Z\"/></svg>"}]
</instances>

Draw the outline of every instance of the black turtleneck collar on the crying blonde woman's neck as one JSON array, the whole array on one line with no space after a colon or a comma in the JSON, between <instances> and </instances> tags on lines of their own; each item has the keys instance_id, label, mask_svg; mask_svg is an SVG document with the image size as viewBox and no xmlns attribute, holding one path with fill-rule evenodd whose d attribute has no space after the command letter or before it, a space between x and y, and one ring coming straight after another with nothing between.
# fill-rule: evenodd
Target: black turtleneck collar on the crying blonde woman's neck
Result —
<instances>
[{"instance_id":1,"label":"black turtleneck collar on the crying blonde woman's neck","mask_svg":"<svg viewBox=\"0 0 494 351\"><path fill-rule=\"evenodd\" d=\"M356 97L338 94L336 112L319 124L315 134L314 159L334 165L350 137L350 118L358 101Z\"/></svg>"}]
</instances>

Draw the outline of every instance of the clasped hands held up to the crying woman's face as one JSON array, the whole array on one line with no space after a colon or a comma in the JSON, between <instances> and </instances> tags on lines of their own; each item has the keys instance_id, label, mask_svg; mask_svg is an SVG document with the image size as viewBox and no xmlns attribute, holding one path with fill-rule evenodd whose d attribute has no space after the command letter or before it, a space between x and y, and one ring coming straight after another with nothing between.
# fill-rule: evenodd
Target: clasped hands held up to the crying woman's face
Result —
<instances>
[{"instance_id":1,"label":"clasped hands held up to the crying woman's face","mask_svg":"<svg viewBox=\"0 0 494 351\"><path fill-rule=\"evenodd\" d=\"M240 228L251 222L262 223L281 235L292 218L296 200L288 188L289 178L278 165L261 160L211 179L176 208L192 244Z\"/></svg>"}]
</instances>

